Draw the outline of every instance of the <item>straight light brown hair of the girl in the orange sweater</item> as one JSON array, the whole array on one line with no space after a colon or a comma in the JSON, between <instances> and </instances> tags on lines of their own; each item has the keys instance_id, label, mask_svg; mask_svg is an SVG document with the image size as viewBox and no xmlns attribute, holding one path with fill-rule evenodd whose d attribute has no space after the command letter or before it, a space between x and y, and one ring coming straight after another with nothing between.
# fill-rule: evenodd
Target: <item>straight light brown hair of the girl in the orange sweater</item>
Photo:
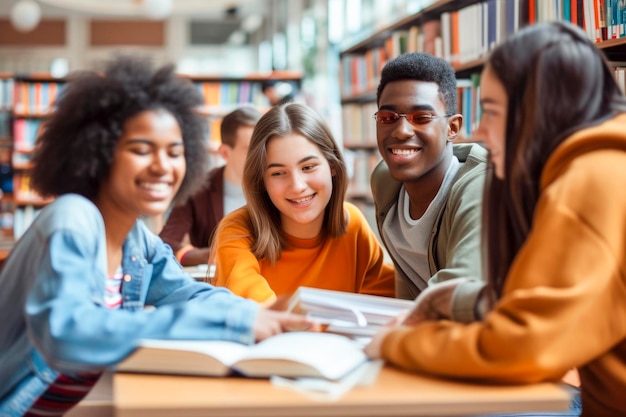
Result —
<instances>
[{"instance_id":1,"label":"straight light brown hair of the girl in the orange sweater","mask_svg":"<svg viewBox=\"0 0 626 417\"><path fill-rule=\"evenodd\" d=\"M286 103L272 107L261 117L250 140L243 177L243 192L250 213L253 243L251 250L257 259L271 263L280 259L285 246L280 229L280 212L272 203L265 187L267 144L273 138L297 133L315 144L334 171L333 190L324 213L322 233L338 237L345 234L347 221L343 201L348 187L346 166L341 149L324 120L310 107Z\"/></svg>"}]
</instances>

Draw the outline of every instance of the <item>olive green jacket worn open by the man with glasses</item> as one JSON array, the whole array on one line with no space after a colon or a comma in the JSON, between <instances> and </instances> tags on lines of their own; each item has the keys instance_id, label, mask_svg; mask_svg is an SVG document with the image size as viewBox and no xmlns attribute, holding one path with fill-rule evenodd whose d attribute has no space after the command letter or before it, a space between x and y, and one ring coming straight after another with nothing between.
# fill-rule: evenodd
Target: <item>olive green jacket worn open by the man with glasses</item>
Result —
<instances>
[{"instance_id":1,"label":"olive green jacket worn open by the man with glasses","mask_svg":"<svg viewBox=\"0 0 626 417\"><path fill-rule=\"evenodd\" d=\"M452 300L452 318L457 321L475 320L474 305L483 287L481 267L481 210L483 186L487 171L487 151L478 144L455 144L454 155L461 166L454 178L446 203L437 217L428 245L431 278L436 284L452 278L467 278L457 287ZM372 195L376 206L376 223L385 247L382 225L398 201L402 183L391 177L387 164L378 163L371 177ZM407 273L396 267L396 297L413 299L420 293Z\"/></svg>"}]
</instances>

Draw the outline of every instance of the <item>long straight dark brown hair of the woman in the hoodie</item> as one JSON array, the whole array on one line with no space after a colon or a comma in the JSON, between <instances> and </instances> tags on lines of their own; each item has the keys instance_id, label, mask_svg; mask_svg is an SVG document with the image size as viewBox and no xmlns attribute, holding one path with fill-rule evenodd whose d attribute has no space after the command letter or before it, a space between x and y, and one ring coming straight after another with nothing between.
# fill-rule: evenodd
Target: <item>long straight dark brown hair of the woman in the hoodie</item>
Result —
<instances>
[{"instance_id":1,"label":"long straight dark brown hair of the woman in the hoodie","mask_svg":"<svg viewBox=\"0 0 626 417\"><path fill-rule=\"evenodd\" d=\"M487 61L508 96L505 178L487 178L483 231L491 295L532 227L543 167L573 132L626 109L602 52L564 22L521 29Z\"/></svg>"}]
</instances>

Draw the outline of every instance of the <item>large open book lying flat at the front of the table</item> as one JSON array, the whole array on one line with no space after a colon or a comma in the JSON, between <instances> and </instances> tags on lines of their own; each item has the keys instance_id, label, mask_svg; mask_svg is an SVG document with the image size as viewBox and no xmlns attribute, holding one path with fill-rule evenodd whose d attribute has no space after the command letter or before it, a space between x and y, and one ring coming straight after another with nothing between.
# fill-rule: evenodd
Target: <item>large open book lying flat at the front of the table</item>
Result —
<instances>
[{"instance_id":1,"label":"large open book lying flat at the front of the table","mask_svg":"<svg viewBox=\"0 0 626 417\"><path fill-rule=\"evenodd\" d=\"M366 361L362 347L345 336L290 332L251 346L220 340L143 340L116 371L337 380Z\"/></svg>"}]
</instances>

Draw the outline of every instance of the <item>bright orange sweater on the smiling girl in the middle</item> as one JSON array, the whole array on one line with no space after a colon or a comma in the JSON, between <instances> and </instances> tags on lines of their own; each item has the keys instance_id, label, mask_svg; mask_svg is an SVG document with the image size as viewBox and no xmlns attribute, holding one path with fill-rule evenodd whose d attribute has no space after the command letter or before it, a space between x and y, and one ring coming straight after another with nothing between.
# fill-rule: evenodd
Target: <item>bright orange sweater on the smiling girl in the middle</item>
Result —
<instances>
[{"instance_id":1,"label":"bright orange sweater on the smiling girl in the middle","mask_svg":"<svg viewBox=\"0 0 626 417\"><path fill-rule=\"evenodd\" d=\"M288 237L288 247L272 266L250 251L248 209L226 216L216 236L215 285L259 302L291 294L299 286L365 294L394 295L393 266L363 214L345 203L347 233L330 239Z\"/></svg>"}]
</instances>

